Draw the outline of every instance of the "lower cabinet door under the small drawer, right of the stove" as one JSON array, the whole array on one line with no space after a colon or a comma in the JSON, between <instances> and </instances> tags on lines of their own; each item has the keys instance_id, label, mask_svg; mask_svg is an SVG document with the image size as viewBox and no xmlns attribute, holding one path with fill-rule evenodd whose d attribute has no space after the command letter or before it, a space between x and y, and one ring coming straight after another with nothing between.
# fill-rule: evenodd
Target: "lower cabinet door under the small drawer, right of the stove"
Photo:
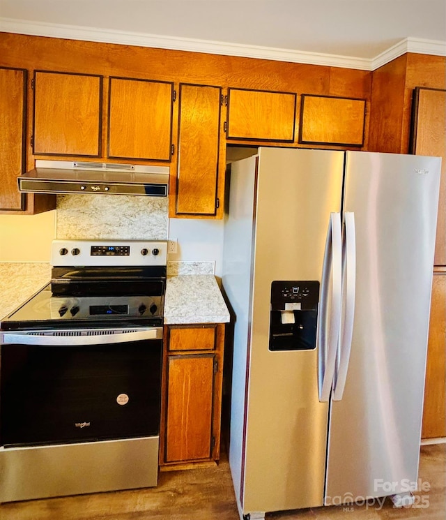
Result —
<instances>
[{"instance_id":1,"label":"lower cabinet door under the small drawer, right of the stove","mask_svg":"<svg viewBox=\"0 0 446 520\"><path fill-rule=\"evenodd\" d=\"M210 459L214 357L169 356L166 462Z\"/></svg>"}]
</instances>

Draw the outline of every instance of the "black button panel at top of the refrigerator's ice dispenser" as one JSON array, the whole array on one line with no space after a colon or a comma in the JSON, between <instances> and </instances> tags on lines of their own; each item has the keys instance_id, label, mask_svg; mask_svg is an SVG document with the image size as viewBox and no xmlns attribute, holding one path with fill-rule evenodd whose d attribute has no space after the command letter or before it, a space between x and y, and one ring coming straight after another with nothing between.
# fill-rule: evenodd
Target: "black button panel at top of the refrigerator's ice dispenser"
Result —
<instances>
[{"instance_id":1,"label":"black button panel at top of the refrigerator's ice dispenser","mask_svg":"<svg viewBox=\"0 0 446 520\"><path fill-rule=\"evenodd\" d=\"M313 309L319 302L318 281L273 281L271 309L284 311L286 304L300 303L299 309Z\"/></svg>"}]
</instances>

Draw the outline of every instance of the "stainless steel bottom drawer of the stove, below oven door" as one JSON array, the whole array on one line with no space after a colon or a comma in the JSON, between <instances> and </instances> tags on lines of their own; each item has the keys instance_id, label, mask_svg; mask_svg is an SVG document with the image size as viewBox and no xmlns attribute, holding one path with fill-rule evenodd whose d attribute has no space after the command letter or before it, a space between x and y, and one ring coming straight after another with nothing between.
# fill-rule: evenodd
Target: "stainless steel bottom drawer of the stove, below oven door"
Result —
<instances>
[{"instance_id":1,"label":"stainless steel bottom drawer of the stove, below oven door","mask_svg":"<svg viewBox=\"0 0 446 520\"><path fill-rule=\"evenodd\" d=\"M157 485L159 437L0 448L0 502Z\"/></svg>"}]
</instances>

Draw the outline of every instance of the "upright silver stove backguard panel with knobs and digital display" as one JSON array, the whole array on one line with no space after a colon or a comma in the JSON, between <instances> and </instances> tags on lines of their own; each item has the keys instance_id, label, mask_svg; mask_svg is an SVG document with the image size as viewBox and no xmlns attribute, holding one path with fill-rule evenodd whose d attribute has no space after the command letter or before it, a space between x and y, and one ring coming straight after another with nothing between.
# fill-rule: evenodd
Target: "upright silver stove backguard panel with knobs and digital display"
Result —
<instances>
[{"instance_id":1,"label":"upright silver stove backguard panel with knobs and digital display","mask_svg":"<svg viewBox=\"0 0 446 520\"><path fill-rule=\"evenodd\" d=\"M53 240L51 265L155 266L167 264L167 240Z\"/></svg>"}]
</instances>

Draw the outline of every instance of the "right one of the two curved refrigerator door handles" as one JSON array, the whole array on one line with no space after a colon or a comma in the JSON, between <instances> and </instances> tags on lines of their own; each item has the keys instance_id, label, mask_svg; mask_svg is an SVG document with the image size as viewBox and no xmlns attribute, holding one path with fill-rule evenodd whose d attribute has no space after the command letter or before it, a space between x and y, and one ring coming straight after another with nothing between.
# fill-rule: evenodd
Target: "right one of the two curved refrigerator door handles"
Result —
<instances>
[{"instance_id":1,"label":"right one of the two curved refrigerator door handles","mask_svg":"<svg viewBox=\"0 0 446 520\"><path fill-rule=\"evenodd\" d=\"M356 236L355 214L344 214L344 251L342 255L342 293L344 295L344 316L341 322L341 335L337 354L337 371L334 377L333 401L341 401L346 386L348 362L350 360L353 321L355 316L356 290Z\"/></svg>"}]
</instances>

